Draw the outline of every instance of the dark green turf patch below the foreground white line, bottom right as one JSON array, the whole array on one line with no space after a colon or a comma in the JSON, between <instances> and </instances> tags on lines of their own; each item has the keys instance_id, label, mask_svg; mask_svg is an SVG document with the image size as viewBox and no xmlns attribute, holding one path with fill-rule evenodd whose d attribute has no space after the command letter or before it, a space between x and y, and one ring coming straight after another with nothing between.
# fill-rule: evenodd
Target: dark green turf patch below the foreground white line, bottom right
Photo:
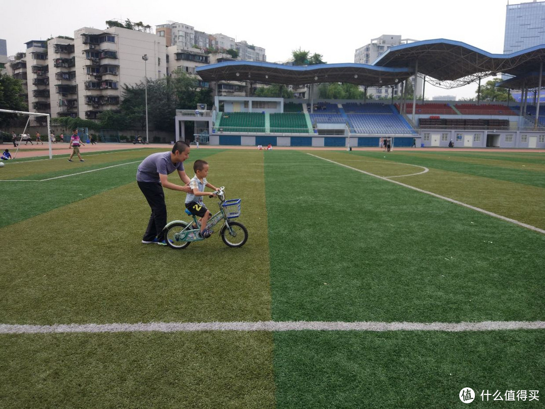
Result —
<instances>
[{"instance_id":1,"label":"dark green turf patch below the foreground white line, bottom right","mask_svg":"<svg viewBox=\"0 0 545 409\"><path fill-rule=\"evenodd\" d=\"M274 335L278 408L538 407L542 331L487 333L282 332ZM482 402L480 393L539 390L540 401ZM486 397L485 397L486 399Z\"/></svg>"}]
</instances>

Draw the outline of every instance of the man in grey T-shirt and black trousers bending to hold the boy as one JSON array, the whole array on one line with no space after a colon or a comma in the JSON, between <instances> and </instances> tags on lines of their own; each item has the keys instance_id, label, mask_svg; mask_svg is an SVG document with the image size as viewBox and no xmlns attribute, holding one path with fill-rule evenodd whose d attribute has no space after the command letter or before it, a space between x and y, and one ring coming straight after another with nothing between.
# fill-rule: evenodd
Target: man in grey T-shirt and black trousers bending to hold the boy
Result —
<instances>
[{"instance_id":1,"label":"man in grey T-shirt and black trousers bending to hold the boy","mask_svg":"<svg viewBox=\"0 0 545 409\"><path fill-rule=\"evenodd\" d=\"M146 233L142 237L142 243L166 246L163 229L167 224L167 205L163 188L180 192L192 192L189 187L189 176L185 174L184 161L189 158L189 144L178 141L172 147L172 151L159 152L149 155L142 161L136 172L138 187L152 208ZM168 174L177 170L180 180L185 186L180 186L168 181Z\"/></svg>"}]
</instances>

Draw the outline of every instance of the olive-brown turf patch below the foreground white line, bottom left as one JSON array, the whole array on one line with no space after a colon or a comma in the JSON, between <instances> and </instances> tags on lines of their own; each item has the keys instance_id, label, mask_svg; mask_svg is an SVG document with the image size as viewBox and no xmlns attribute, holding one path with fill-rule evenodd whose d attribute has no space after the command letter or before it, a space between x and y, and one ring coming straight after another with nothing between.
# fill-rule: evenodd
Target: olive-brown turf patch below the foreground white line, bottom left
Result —
<instances>
[{"instance_id":1,"label":"olive-brown turf patch below the foreground white line, bottom left","mask_svg":"<svg viewBox=\"0 0 545 409\"><path fill-rule=\"evenodd\" d=\"M0 336L0 406L274 407L272 334Z\"/></svg>"}]
</instances>

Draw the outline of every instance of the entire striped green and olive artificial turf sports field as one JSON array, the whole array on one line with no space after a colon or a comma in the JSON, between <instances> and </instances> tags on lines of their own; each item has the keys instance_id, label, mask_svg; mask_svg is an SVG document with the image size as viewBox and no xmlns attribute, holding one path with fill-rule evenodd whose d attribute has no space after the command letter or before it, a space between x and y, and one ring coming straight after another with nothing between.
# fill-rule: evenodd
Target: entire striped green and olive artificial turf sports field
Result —
<instances>
[{"instance_id":1,"label":"entire striped green and olive artificial turf sports field","mask_svg":"<svg viewBox=\"0 0 545 409\"><path fill-rule=\"evenodd\" d=\"M545 235L370 174L544 230L545 154L193 149L187 173L209 162L208 180L242 199L249 240L175 251L140 242L135 174L151 152L0 169L0 407L445 408L465 407L467 387L471 405L543 405ZM188 219L185 194L165 194L168 219ZM258 321L318 329L6 330ZM538 325L319 329L336 321Z\"/></svg>"}]
</instances>

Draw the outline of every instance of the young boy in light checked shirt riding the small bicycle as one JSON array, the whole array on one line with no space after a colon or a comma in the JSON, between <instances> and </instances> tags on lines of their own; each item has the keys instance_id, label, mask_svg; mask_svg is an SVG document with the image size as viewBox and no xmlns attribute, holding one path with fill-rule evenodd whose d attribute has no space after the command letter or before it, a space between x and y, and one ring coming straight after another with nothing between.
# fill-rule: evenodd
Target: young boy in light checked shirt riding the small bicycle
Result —
<instances>
[{"instance_id":1,"label":"young boy in light checked shirt riding the small bicycle","mask_svg":"<svg viewBox=\"0 0 545 409\"><path fill-rule=\"evenodd\" d=\"M206 228L206 224L210 219L210 211L204 206L203 196L215 196L214 192L205 192L204 187L208 187L214 191L216 187L209 184L206 180L208 176L208 162L197 159L193 163L195 176L190 180L189 187L193 189L192 193L187 193L185 197L185 207L192 215L201 217L201 236L204 238L210 237L212 230Z\"/></svg>"}]
</instances>

